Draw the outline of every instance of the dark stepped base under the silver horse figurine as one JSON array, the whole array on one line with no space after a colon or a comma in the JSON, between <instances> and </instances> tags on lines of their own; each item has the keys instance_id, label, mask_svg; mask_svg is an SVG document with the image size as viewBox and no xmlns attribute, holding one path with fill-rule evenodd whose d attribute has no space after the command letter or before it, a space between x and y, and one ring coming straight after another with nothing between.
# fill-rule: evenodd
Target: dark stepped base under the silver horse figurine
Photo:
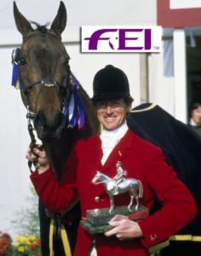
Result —
<instances>
[{"instance_id":1,"label":"dark stepped base under the silver horse figurine","mask_svg":"<svg viewBox=\"0 0 201 256\"><path fill-rule=\"evenodd\" d=\"M130 219L135 221L139 221L148 216L148 210L144 206L139 206L137 210L135 210L135 206L133 206L130 211L128 207L115 207L111 213L109 210L109 208L88 210L87 220L81 220L80 224L89 234L99 234L112 230L113 227L110 226L108 222L115 215L128 215Z\"/></svg>"}]
</instances>

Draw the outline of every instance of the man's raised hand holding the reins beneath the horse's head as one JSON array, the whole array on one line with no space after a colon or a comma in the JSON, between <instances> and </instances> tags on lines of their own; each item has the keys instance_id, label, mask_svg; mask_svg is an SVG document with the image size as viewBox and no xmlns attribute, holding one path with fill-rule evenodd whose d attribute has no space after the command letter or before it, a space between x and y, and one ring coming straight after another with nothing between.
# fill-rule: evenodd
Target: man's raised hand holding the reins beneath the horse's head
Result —
<instances>
[{"instance_id":1,"label":"man's raised hand holding the reins beneath the horse's head","mask_svg":"<svg viewBox=\"0 0 201 256\"><path fill-rule=\"evenodd\" d=\"M37 172L39 174L46 172L49 169L49 160L43 149L28 148L26 159L32 162L37 161Z\"/></svg>"}]
</instances>

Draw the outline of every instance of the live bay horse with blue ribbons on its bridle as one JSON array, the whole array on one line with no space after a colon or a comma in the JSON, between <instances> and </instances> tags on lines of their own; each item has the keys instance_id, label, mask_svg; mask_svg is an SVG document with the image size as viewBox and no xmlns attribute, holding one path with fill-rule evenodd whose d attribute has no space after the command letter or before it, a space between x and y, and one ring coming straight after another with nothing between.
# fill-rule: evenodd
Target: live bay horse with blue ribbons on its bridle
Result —
<instances>
[{"instance_id":1,"label":"live bay horse with blue ribbons on its bridle","mask_svg":"<svg viewBox=\"0 0 201 256\"><path fill-rule=\"evenodd\" d=\"M60 181L73 144L80 138L97 134L99 121L89 96L72 74L70 57L61 42L61 33L66 27L65 4L60 2L55 20L49 29L37 22L26 20L15 2L14 20L23 38L20 49L13 53L14 85L17 80L20 82L20 95L27 109L28 127L32 131L30 125L33 123L55 177ZM32 23L37 27L32 28ZM34 142L33 139L33 144ZM42 251L43 255L49 255L49 220L44 217L41 203L39 208ZM73 251L80 218L78 205L70 212L69 216L77 217L75 227L73 219L69 217L71 227L67 228L67 232L71 233L68 235L69 240L72 240L70 245ZM55 255L63 255L63 250L56 251L56 248L55 246Z\"/></svg>"}]
</instances>

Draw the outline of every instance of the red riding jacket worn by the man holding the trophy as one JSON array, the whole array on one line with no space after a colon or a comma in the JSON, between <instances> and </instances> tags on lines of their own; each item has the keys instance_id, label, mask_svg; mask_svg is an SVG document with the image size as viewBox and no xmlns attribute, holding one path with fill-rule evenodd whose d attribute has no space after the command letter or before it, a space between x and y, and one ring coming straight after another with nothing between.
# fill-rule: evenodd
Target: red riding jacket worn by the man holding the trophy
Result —
<instances>
[{"instance_id":1,"label":"red riding jacket worn by the man holding the trophy","mask_svg":"<svg viewBox=\"0 0 201 256\"><path fill-rule=\"evenodd\" d=\"M108 255L148 255L147 247L164 241L181 229L196 214L196 206L186 186L176 178L161 149L147 143L132 131L127 131L105 165L101 165L102 150L100 137L89 137L79 141L66 161L66 174L59 184L51 169L38 175L31 175L32 183L45 206L54 212L62 212L72 201L80 199L82 216L94 208L110 207L106 190L102 184L91 183L96 171L114 177L117 161L121 161L127 177L141 180L144 189L142 204L152 208L156 197L163 203L158 212L139 223L142 238L119 241L116 237L104 235L90 236L82 227L78 231L78 241L74 255L87 256L95 238L98 256ZM95 201L95 197L100 201ZM129 195L115 196L115 205L129 204Z\"/></svg>"}]
</instances>

